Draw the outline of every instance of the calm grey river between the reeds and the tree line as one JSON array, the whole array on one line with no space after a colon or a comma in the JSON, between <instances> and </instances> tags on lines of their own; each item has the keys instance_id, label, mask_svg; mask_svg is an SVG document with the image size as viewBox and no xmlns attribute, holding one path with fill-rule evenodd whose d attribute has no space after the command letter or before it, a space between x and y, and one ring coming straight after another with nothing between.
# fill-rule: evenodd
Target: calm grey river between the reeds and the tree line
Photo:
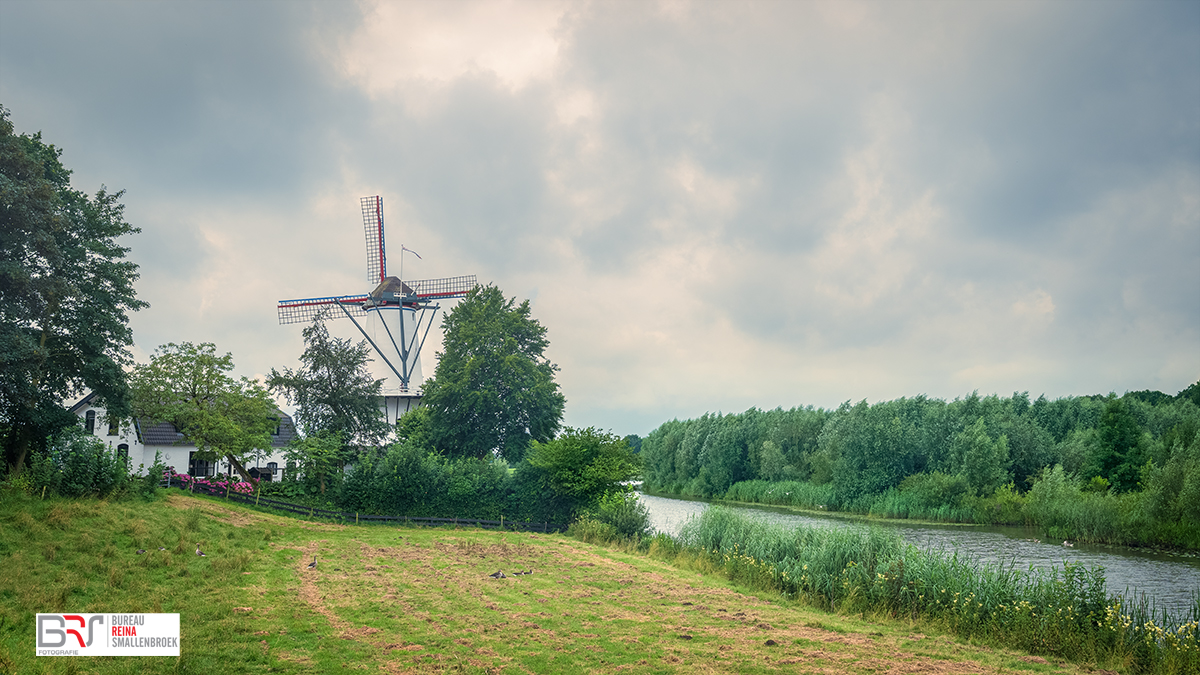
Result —
<instances>
[{"instance_id":1,"label":"calm grey river between the reeds and the tree line","mask_svg":"<svg viewBox=\"0 0 1200 675\"><path fill-rule=\"evenodd\" d=\"M650 526L659 532L678 534L683 525L701 514L709 503L653 495L638 495L650 512ZM836 516L800 515L769 506L738 506L733 510L768 522L788 527L863 527L859 520ZM1098 546L1062 542L1039 543L1039 534L1024 527L961 525L913 525L907 522L875 522L874 526L894 528L900 537L919 549L954 550L970 555L982 563L1002 562L1018 569L1062 568L1064 562L1086 567L1103 567L1109 593L1127 597L1145 593L1154 605L1176 616L1190 614L1193 593L1200 593L1200 556L1175 555L1123 546Z\"/></svg>"}]
</instances>

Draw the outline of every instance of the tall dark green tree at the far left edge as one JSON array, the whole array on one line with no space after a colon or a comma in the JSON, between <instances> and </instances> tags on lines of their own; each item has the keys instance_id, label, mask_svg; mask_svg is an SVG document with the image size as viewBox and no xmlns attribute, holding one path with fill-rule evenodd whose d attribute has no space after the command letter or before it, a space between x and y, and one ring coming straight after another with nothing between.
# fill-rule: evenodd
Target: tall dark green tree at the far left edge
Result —
<instances>
[{"instance_id":1,"label":"tall dark green tree at the far left edge","mask_svg":"<svg viewBox=\"0 0 1200 675\"><path fill-rule=\"evenodd\" d=\"M127 312L148 306L118 244L139 232L122 192L73 190L61 154L41 133L14 135L0 107L0 441L13 472L74 423L68 396L90 389L110 416L128 416Z\"/></svg>"}]
</instances>

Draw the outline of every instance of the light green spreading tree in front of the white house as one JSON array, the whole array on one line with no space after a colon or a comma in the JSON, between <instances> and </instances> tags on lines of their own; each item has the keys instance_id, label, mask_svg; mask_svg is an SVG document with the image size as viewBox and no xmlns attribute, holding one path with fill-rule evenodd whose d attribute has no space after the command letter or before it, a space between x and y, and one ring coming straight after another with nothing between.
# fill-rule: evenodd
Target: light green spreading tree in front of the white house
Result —
<instances>
[{"instance_id":1,"label":"light green spreading tree in front of the white house","mask_svg":"<svg viewBox=\"0 0 1200 675\"><path fill-rule=\"evenodd\" d=\"M233 368L233 356L217 356L211 342L158 347L133 370L133 408L175 425L200 456L223 455L248 482L242 458L270 447L278 412L262 384L230 377Z\"/></svg>"}]
</instances>

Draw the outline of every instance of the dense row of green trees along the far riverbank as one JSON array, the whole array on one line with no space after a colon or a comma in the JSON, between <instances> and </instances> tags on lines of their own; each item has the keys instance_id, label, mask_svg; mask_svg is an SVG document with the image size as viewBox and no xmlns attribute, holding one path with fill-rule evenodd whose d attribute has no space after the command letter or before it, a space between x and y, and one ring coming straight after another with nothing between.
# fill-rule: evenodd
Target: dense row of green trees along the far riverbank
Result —
<instances>
[{"instance_id":1,"label":"dense row of green trees along the far riverbank","mask_svg":"<svg viewBox=\"0 0 1200 675\"><path fill-rule=\"evenodd\" d=\"M1200 382L750 408L664 423L641 454L649 491L1200 548L1198 432Z\"/></svg>"}]
</instances>

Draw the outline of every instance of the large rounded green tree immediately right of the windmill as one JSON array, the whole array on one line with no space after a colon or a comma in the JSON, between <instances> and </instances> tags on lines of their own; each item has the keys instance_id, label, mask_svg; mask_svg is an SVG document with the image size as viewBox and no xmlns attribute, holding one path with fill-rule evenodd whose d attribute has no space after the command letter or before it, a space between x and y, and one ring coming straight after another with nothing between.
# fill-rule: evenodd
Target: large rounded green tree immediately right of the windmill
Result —
<instances>
[{"instance_id":1,"label":"large rounded green tree immediately right of the windmill","mask_svg":"<svg viewBox=\"0 0 1200 675\"><path fill-rule=\"evenodd\" d=\"M472 291L442 322L434 376L425 383L431 436L456 456L520 461L530 441L554 437L566 399L544 356L546 329L496 286Z\"/></svg>"}]
</instances>

